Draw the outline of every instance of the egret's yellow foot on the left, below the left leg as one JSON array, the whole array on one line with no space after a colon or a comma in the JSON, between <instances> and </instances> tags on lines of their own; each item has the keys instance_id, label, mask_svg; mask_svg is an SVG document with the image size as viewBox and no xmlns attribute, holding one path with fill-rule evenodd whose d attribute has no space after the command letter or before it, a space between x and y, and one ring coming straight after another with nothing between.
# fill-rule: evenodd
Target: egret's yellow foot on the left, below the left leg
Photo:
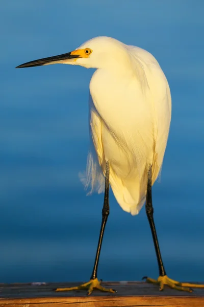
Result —
<instances>
[{"instance_id":1,"label":"egret's yellow foot on the left, below the left leg","mask_svg":"<svg viewBox=\"0 0 204 307\"><path fill-rule=\"evenodd\" d=\"M98 278L90 279L88 282L80 284L78 287L71 287L71 288L57 288L55 291L71 291L71 290L82 290L87 289L87 294L90 295L93 289L98 289L103 292L111 292L115 293L116 291L113 289L107 289L100 286L102 280L98 280Z\"/></svg>"}]
</instances>

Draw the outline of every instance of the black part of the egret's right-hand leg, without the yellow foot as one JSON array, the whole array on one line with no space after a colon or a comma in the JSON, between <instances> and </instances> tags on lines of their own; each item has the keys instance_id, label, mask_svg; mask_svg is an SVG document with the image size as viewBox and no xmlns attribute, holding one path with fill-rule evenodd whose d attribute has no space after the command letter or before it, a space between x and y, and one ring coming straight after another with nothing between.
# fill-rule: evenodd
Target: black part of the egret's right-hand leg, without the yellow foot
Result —
<instances>
[{"instance_id":1,"label":"black part of the egret's right-hand leg, without the yellow foot","mask_svg":"<svg viewBox=\"0 0 204 307\"><path fill-rule=\"evenodd\" d=\"M149 167L148 170L148 179L147 179L147 194L146 194L146 214L147 218L149 221L149 225L151 228L151 234L152 238L154 240L154 245L155 245L155 251L157 254L157 261L158 261L158 266L159 266L159 274L160 276L165 276L166 272L164 269L163 261L162 261L162 256L159 248L159 242L158 242L158 237L157 237L157 232L155 228L155 222L154 222L154 209L152 206L152 198L151 198L151 166Z\"/></svg>"}]
</instances>

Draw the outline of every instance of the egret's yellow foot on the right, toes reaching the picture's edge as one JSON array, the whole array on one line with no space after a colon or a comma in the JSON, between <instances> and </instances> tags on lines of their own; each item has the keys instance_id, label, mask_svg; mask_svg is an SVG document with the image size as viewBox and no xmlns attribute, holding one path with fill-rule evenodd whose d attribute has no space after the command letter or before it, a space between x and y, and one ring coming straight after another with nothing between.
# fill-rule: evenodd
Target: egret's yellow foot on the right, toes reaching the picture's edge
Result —
<instances>
[{"instance_id":1,"label":"egret's yellow foot on the right, toes reaching the picture's edge","mask_svg":"<svg viewBox=\"0 0 204 307\"><path fill-rule=\"evenodd\" d=\"M146 279L147 282L156 283L160 285L160 291L164 289L164 285L167 284L172 289L180 290L180 291L187 291L192 292L191 288L204 288L204 284L197 284L197 283L189 283L189 282L179 282L169 278L167 275L159 276L159 278L152 279L147 276L143 277L142 279Z\"/></svg>"}]
</instances>

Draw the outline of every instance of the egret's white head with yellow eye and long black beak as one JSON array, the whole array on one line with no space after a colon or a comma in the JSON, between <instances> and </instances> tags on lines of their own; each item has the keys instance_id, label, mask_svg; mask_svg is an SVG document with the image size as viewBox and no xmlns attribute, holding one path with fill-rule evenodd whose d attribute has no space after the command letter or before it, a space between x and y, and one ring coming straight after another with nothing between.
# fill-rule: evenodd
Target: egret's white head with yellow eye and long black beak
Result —
<instances>
[{"instance_id":1,"label":"egret's white head with yellow eye and long black beak","mask_svg":"<svg viewBox=\"0 0 204 307\"><path fill-rule=\"evenodd\" d=\"M111 68L127 61L129 56L122 42L111 37L99 36L86 41L74 51L27 62L16 68L57 63L81 65L86 68Z\"/></svg>"}]
</instances>

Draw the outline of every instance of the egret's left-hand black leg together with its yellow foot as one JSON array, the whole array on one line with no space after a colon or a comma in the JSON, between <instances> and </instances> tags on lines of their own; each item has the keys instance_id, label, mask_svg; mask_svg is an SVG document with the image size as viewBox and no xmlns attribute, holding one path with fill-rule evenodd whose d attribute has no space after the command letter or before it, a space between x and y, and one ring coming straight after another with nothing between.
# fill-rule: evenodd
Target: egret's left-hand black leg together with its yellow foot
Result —
<instances>
[{"instance_id":1,"label":"egret's left-hand black leg together with its yellow foot","mask_svg":"<svg viewBox=\"0 0 204 307\"><path fill-rule=\"evenodd\" d=\"M56 291L71 291L71 290L81 290L86 289L88 290L88 294L91 294L93 289L98 289L103 292L116 292L113 289L107 289L101 286L101 281L97 278L97 268L98 268L98 261L100 256L101 245L103 241L104 231L106 227L106 222L109 216L109 173L110 173L110 165L109 162L106 162L106 183L105 183L105 196L104 196L104 206L102 210L102 222L100 227L100 234L98 239L98 246L95 256L95 262L93 266L93 272L91 274L91 278L88 282L81 284L78 287L71 287L71 288L58 288Z\"/></svg>"}]
</instances>

